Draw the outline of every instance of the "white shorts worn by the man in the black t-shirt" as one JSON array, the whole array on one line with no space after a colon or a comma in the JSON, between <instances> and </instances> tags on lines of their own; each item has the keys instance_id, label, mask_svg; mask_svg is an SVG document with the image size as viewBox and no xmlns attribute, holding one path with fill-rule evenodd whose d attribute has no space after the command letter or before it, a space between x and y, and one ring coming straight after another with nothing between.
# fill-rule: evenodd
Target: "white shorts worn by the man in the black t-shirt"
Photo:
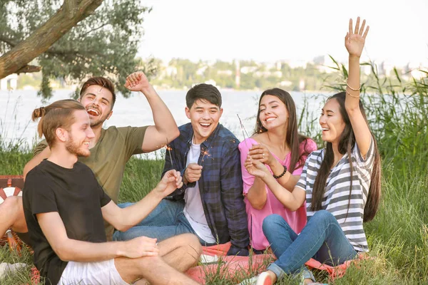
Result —
<instances>
[{"instance_id":1,"label":"white shorts worn by the man in the black t-shirt","mask_svg":"<svg viewBox=\"0 0 428 285\"><path fill-rule=\"evenodd\" d=\"M114 266L114 259L100 262L68 261L58 285L129 285Z\"/></svg>"}]
</instances>

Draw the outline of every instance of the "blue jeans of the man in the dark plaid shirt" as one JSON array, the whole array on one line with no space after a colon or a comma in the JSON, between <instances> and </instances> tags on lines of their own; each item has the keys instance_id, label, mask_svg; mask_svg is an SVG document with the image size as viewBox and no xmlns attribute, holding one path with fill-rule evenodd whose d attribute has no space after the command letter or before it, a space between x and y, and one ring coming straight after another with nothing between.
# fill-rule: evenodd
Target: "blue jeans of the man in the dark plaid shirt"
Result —
<instances>
[{"instance_id":1,"label":"blue jeans of the man in the dark plaid shirt","mask_svg":"<svg viewBox=\"0 0 428 285\"><path fill-rule=\"evenodd\" d=\"M118 204L121 208L133 203ZM163 199L153 211L141 222L126 232L115 231L113 241L126 241L136 237L152 237L158 242L178 234L195 234L188 219L184 216L184 201Z\"/></svg>"}]
</instances>

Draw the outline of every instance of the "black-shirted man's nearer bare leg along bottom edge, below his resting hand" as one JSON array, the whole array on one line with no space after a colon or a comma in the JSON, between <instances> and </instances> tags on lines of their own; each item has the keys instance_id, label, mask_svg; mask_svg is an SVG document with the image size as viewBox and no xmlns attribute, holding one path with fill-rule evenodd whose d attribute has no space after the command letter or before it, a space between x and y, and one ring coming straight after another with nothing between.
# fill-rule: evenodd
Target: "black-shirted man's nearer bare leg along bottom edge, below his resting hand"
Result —
<instances>
[{"instance_id":1,"label":"black-shirted man's nearer bare leg along bottom edge, below his resting hand","mask_svg":"<svg viewBox=\"0 0 428 285\"><path fill-rule=\"evenodd\" d=\"M114 259L114 264L122 279L130 284L141 278L146 279L152 285L198 284L166 264L161 257L141 257L139 259L119 257ZM138 284L145 284L145 280L139 281Z\"/></svg>"}]
</instances>

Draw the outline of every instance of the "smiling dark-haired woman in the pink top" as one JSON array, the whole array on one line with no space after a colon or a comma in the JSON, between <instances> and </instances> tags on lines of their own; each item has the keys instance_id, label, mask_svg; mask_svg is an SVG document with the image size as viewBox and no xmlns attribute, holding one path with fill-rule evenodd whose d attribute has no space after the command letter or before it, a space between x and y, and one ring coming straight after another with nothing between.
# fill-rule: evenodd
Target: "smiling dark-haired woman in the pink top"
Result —
<instances>
[{"instance_id":1,"label":"smiling dark-haired woman in the pink top","mask_svg":"<svg viewBox=\"0 0 428 285\"><path fill-rule=\"evenodd\" d=\"M251 246L261 253L270 246L263 234L263 219L280 214L292 229L299 233L306 224L306 205L295 212L286 209L260 178L245 169L248 155L260 160L277 181L292 191L302 173L307 155L317 150L310 138L297 133L295 103L287 91L280 88L265 90L260 96L255 134L240 142L245 207ZM290 179L286 172L292 175Z\"/></svg>"}]
</instances>

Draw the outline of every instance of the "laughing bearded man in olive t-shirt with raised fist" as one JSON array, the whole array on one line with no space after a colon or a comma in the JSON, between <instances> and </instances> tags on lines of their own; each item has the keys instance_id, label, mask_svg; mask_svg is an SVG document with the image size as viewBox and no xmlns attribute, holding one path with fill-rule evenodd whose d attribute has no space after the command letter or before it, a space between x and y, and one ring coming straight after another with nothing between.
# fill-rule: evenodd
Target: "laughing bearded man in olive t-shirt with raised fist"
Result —
<instances>
[{"instance_id":1,"label":"laughing bearded man in olive t-shirt with raised fist","mask_svg":"<svg viewBox=\"0 0 428 285\"><path fill-rule=\"evenodd\" d=\"M119 188L129 158L138 153L158 150L180 134L173 115L148 82L146 75L136 72L128 76L126 80L128 90L140 91L146 96L151 106L155 125L103 129L103 123L111 117L113 105L116 102L113 83L106 78L88 79L86 83L83 83L78 99L88 112L91 128L95 134L95 138L89 145L91 155L80 157L79 161L91 168L103 190L115 203L118 202ZM41 141L34 149L34 158L24 167L24 178L31 169L49 157L50 153L51 150L47 147L46 140ZM2 217L8 217L8 219ZM24 237L24 241L28 240L25 237L28 229L21 197L9 197L3 204L0 204L0 237L9 228ZM111 241L112 234L113 227L106 225L106 235L109 241Z\"/></svg>"}]
</instances>

